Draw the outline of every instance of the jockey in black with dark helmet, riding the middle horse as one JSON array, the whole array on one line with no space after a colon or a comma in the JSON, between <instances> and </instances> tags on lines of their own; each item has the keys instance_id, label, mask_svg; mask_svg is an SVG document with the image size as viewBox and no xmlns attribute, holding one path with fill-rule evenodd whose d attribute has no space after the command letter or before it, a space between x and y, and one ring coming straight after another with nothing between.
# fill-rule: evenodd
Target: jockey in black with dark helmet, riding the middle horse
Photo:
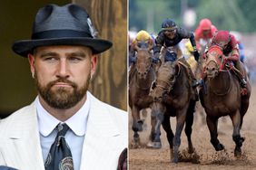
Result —
<instances>
[{"instance_id":1,"label":"jockey in black with dark helmet, riding the middle horse","mask_svg":"<svg viewBox=\"0 0 256 170\"><path fill-rule=\"evenodd\" d=\"M183 39L190 39L194 59L198 61L199 53L196 50L196 43L193 33L178 27L171 19L165 19L162 22L162 30L158 33L158 36L155 39L153 54L154 58L159 58L162 47L173 47L177 51L178 58L181 58L181 61L187 66L190 77L192 78L192 86L194 86L196 79L192 73L189 63L182 57L182 51L179 47L179 42L181 42Z\"/></svg>"}]
</instances>

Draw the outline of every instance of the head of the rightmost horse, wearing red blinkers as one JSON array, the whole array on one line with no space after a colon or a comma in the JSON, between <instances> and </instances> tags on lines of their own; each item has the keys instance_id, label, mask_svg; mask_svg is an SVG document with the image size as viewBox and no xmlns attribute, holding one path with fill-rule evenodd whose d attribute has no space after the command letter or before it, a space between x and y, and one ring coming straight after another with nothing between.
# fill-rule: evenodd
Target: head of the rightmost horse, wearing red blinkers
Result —
<instances>
[{"instance_id":1,"label":"head of the rightmost horse, wearing red blinkers","mask_svg":"<svg viewBox=\"0 0 256 170\"><path fill-rule=\"evenodd\" d=\"M222 48L217 45L209 48L209 51L205 53L205 60L204 71L208 78L215 78L220 71L223 71L226 63Z\"/></svg>"}]
</instances>

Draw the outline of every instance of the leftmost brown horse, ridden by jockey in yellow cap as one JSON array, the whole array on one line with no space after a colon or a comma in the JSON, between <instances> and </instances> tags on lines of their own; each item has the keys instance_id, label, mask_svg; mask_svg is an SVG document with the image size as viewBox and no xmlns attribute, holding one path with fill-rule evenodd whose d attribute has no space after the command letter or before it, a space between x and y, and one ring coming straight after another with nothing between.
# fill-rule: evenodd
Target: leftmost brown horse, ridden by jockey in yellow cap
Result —
<instances>
[{"instance_id":1,"label":"leftmost brown horse, ridden by jockey in yellow cap","mask_svg":"<svg viewBox=\"0 0 256 170\"><path fill-rule=\"evenodd\" d=\"M143 120L140 117L140 110L149 108L152 102L149 98L149 91L155 78L153 70L153 55L150 47L136 47L136 61L129 76L129 106L133 116L133 140L135 146L140 143L138 131L143 130Z\"/></svg>"}]
</instances>

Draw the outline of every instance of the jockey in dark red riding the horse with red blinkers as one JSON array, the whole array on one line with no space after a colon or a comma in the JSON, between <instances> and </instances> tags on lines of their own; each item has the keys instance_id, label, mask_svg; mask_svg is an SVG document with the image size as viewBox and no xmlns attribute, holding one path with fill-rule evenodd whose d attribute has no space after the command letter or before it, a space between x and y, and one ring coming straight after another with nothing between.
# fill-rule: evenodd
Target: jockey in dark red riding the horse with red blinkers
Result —
<instances>
[{"instance_id":1,"label":"jockey in dark red riding the horse with red blinkers","mask_svg":"<svg viewBox=\"0 0 256 170\"><path fill-rule=\"evenodd\" d=\"M241 67L239 49L235 37L228 31L218 31L212 38L212 45L220 46L223 54L226 56L226 60L234 63L235 68L239 71L237 75L241 80L241 88L246 89L245 72Z\"/></svg>"}]
</instances>

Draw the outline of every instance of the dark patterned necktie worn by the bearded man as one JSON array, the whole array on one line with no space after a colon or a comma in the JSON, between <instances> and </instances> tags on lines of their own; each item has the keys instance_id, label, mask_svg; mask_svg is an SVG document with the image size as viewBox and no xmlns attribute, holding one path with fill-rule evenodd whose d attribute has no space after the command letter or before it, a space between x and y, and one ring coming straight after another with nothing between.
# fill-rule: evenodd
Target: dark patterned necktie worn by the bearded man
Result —
<instances>
[{"instance_id":1,"label":"dark patterned necktie worn by the bearded man","mask_svg":"<svg viewBox=\"0 0 256 170\"><path fill-rule=\"evenodd\" d=\"M59 123L56 128L58 134L46 158L45 170L74 170L72 154L64 139L69 127Z\"/></svg>"}]
</instances>

